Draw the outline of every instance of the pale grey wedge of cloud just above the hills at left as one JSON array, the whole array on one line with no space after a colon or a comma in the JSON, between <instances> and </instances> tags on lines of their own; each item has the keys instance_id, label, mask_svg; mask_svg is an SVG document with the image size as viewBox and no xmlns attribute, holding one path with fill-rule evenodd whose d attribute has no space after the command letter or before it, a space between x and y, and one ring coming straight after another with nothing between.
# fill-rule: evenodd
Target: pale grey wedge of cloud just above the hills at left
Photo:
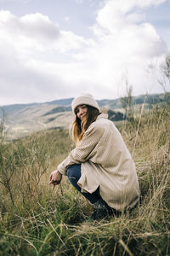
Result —
<instances>
[{"instance_id":1,"label":"pale grey wedge of cloud just above the hills at left","mask_svg":"<svg viewBox=\"0 0 170 256\"><path fill-rule=\"evenodd\" d=\"M5 101L8 99L11 103L16 100L20 102L21 99L23 102L37 102L41 94L42 99L45 100L54 93L56 84L61 84L59 79L53 80L47 71L43 72L29 65L29 62L20 60L20 56L10 44L1 44L0 60L3 63L0 69L0 80L3 85L0 102L3 104L6 104Z\"/></svg>"}]
</instances>

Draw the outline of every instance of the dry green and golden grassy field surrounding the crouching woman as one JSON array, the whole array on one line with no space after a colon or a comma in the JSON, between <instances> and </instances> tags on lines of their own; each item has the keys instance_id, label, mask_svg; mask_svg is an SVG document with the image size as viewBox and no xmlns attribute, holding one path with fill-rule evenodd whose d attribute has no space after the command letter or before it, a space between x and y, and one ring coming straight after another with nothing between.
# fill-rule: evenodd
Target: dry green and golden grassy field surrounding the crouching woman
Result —
<instances>
[{"instance_id":1,"label":"dry green and golden grassy field surrounding the crouching woman","mask_svg":"<svg viewBox=\"0 0 170 256\"><path fill-rule=\"evenodd\" d=\"M3 125L2 125L3 127ZM99 222L64 177L50 172L74 148L68 131L43 131L5 143L0 137L0 255L170 255L170 110L144 110L118 124L133 154L141 201ZM3 131L3 128L1 129Z\"/></svg>"}]
</instances>

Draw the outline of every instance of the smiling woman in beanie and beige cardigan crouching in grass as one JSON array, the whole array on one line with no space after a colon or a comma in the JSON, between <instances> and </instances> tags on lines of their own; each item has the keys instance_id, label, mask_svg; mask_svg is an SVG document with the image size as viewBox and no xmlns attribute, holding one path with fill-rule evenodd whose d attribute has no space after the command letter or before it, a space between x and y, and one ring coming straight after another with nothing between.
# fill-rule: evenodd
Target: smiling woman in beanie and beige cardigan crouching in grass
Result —
<instances>
[{"instance_id":1,"label":"smiling woman in beanie and beige cardigan crouching in grass","mask_svg":"<svg viewBox=\"0 0 170 256\"><path fill-rule=\"evenodd\" d=\"M76 148L50 175L53 188L62 175L94 205L92 218L123 212L139 201L139 181L133 159L116 126L100 113L94 97L78 96L72 137Z\"/></svg>"}]
</instances>

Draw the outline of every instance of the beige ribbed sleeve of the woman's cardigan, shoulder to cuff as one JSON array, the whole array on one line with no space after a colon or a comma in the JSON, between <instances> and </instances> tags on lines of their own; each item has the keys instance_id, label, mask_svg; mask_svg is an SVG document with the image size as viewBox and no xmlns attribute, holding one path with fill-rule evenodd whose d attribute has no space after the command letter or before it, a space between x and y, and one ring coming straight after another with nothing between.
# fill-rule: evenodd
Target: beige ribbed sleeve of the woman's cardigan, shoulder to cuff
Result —
<instances>
[{"instance_id":1,"label":"beige ribbed sleeve of the woman's cardigan, shoulder to cuff","mask_svg":"<svg viewBox=\"0 0 170 256\"><path fill-rule=\"evenodd\" d=\"M57 170L66 175L66 170L69 166L74 164L81 164L82 162L87 161L92 152L95 154L95 148L99 143L100 138L103 134L103 128L94 123L88 127L88 130L85 131L82 141L77 145L76 148L71 150L70 154L63 160Z\"/></svg>"}]
</instances>

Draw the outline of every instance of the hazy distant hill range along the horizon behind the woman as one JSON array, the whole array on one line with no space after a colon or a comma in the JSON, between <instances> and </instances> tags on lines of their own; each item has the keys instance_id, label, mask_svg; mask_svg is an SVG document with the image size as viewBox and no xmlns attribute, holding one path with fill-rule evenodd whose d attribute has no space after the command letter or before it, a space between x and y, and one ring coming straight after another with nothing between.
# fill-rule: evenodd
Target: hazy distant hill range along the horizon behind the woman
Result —
<instances>
[{"instance_id":1,"label":"hazy distant hill range along the horizon behind the woman","mask_svg":"<svg viewBox=\"0 0 170 256\"><path fill-rule=\"evenodd\" d=\"M26 136L31 131L44 129L60 129L68 127L74 116L71 112L73 98L60 99L52 102L14 104L0 107L6 115L8 137ZM123 119L121 99L103 99L97 101L101 109L110 110L109 117L113 121ZM149 96L133 96L136 106L153 105L166 102L165 94Z\"/></svg>"}]
</instances>

